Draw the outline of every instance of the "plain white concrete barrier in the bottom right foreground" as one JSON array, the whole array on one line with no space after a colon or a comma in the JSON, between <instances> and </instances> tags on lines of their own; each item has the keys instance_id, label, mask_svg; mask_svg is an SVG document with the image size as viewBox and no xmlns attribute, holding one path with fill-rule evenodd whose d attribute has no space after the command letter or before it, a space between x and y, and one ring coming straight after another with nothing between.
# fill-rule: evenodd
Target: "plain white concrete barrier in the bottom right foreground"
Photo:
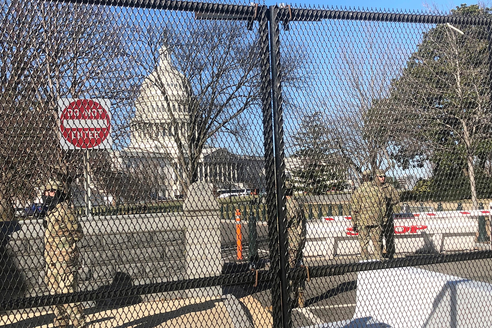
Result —
<instances>
[{"instance_id":1,"label":"plain white concrete barrier in the bottom right foreground","mask_svg":"<svg viewBox=\"0 0 492 328\"><path fill-rule=\"evenodd\" d=\"M491 297L491 284L415 267L363 271L353 321L370 318L393 328L492 327Z\"/></svg>"}]
</instances>

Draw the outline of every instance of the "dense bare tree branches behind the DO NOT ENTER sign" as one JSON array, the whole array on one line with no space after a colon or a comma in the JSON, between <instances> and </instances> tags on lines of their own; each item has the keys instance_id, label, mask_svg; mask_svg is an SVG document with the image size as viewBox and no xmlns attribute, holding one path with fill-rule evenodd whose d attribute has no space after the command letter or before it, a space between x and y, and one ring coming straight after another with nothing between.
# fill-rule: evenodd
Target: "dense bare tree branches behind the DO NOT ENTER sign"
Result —
<instances>
[{"instance_id":1,"label":"dense bare tree branches behind the DO NOT ENTER sign","mask_svg":"<svg viewBox=\"0 0 492 328\"><path fill-rule=\"evenodd\" d=\"M83 152L59 147L58 99L110 98L115 108L129 108L141 83L140 56L129 44L136 30L109 7L25 0L2 6L1 184L30 197L44 180L70 184L82 173ZM110 170L104 157L99 169Z\"/></svg>"}]
</instances>

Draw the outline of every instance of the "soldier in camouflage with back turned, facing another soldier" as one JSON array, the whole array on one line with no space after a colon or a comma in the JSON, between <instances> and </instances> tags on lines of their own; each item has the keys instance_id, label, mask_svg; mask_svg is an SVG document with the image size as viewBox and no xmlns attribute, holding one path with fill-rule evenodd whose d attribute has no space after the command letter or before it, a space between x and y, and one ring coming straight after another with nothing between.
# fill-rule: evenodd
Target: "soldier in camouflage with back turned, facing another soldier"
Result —
<instances>
[{"instance_id":1,"label":"soldier in camouflage with back turned, facing another soldier","mask_svg":"<svg viewBox=\"0 0 492 328\"><path fill-rule=\"evenodd\" d=\"M384 195L375 181L370 180L370 171L363 172L363 183L357 188L350 198L352 209L352 225L358 232L361 244L361 255L364 260L369 260L369 240L372 240L374 257L380 261L382 257L382 208L385 202Z\"/></svg>"}]
</instances>

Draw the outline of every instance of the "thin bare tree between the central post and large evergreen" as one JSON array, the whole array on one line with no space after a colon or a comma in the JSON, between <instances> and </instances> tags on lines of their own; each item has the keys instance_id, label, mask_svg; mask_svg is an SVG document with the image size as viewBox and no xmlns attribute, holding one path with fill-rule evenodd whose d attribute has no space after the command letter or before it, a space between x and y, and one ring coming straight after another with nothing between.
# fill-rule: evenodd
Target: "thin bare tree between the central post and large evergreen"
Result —
<instances>
[{"instance_id":1,"label":"thin bare tree between the central post and large evergreen","mask_svg":"<svg viewBox=\"0 0 492 328\"><path fill-rule=\"evenodd\" d=\"M371 111L373 99L387 95L391 79L398 75L401 63L395 61L395 55L402 50L395 40L381 42L378 24L369 22L361 28L362 47L346 42L338 49L330 70L333 83L322 89L325 95L318 92L319 99L313 100L312 112L324 127L318 129L323 132L324 153L331 154L357 179L365 168L389 170L395 166L390 132L374 129ZM311 111L302 113L304 118L312 115Z\"/></svg>"}]
</instances>

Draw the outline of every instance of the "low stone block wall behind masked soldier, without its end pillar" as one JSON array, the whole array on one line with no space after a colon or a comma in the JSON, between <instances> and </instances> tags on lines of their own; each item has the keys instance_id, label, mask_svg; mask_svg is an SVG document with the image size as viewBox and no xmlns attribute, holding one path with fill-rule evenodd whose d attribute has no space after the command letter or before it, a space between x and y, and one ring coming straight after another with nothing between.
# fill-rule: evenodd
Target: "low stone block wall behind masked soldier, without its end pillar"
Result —
<instances>
[{"instance_id":1,"label":"low stone block wall behind masked soldier, without its end pillar","mask_svg":"<svg viewBox=\"0 0 492 328\"><path fill-rule=\"evenodd\" d=\"M177 215L178 214L178 215ZM186 279L183 213L121 215L81 219L84 238L78 242L81 289L118 283L144 284ZM23 279L25 295L48 292L42 220L21 221L10 236L11 262Z\"/></svg>"}]
</instances>

